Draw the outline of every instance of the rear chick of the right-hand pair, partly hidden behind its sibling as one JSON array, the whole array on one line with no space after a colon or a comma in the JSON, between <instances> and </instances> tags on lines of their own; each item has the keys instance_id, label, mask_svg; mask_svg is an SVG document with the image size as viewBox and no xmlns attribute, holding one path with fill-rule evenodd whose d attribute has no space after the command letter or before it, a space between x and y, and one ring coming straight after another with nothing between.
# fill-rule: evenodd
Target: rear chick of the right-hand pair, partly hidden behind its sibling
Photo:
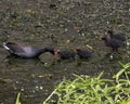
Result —
<instances>
[{"instance_id":1,"label":"rear chick of the right-hand pair, partly hidden behind its sibling","mask_svg":"<svg viewBox=\"0 0 130 104\"><path fill-rule=\"evenodd\" d=\"M110 36L110 38L114 38L114 39L117 39L117 40L120 40L120 41L126 41L126 37L121 34L114 34L113 29L108 30L107 31Z\"/></svg>"}]
</instances>

